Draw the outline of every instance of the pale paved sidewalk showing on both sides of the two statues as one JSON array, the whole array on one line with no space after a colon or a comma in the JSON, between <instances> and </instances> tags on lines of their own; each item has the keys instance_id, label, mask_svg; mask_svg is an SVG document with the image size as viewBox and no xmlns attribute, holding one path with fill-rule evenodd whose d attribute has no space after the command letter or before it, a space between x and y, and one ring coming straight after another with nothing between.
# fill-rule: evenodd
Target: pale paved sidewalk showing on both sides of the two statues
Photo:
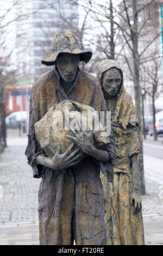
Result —
<instances>
[{"instance_id":1,"label":"pale paved sidewalk showing on both sides of the two statues","mask_svg":"<svg viewBox=\"0 0 163 256\"><path fill-rule=\"evenodd\" d=\"M24 155L26 144L26 137L9 136L8 148L1 155L0 245L39 245L37 193L41 180L32 176ZM149 245L163 245L163 159L145 155L144 161L145 241Z\"/></svg>"}]
</instances>

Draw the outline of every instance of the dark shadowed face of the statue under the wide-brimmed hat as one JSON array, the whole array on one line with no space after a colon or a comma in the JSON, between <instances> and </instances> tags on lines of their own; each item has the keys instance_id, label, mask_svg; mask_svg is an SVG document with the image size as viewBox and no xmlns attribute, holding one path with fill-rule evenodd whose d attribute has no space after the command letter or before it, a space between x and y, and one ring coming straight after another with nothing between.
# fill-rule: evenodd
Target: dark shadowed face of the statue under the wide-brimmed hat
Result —
<instances>
[{"instance_id":1,"label":"dark shadowed face of the statue under the wide-brimmed hat","mask_svg":"<svg viewBox=\"0 0 163 256\"><path fill-rule=\"evenodd\" d=\"M66 82L72 82L76 77L80 61L79 54L60 53L56 60L59 74Z\"/></svg>"}]
</instances>

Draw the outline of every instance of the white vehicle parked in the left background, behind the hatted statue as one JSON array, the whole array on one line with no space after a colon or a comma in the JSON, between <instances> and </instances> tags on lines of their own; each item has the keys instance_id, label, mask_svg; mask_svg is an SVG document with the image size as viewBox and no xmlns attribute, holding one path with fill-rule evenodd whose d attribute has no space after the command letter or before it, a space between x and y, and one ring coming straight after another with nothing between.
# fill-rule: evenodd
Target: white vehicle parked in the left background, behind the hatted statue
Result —
<instances>
[{"instance_id":1,"label":"white vehicle parked in the left background, behind the hatted statue","mask_svg":"<svg viewBox=\"0 0 163 256\"><path fill-rule=\"evenodd\" d=\"M24 125L26 125L26 121L28 118L28 112L27 111L18 111L9 114L5 118L5 124L7 125L7 128L20 128L21 121Z\"/></svg>"}]
</instances>

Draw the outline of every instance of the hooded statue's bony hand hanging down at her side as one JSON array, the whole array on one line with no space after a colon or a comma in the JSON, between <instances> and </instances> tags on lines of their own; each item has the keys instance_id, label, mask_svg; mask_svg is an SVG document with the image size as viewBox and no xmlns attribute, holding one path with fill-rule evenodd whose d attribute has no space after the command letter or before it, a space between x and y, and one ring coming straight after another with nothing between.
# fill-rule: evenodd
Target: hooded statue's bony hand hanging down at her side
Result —
<instances>
[{"instance_id":1,"label":"hooded statue's bony hand hanging down at her side","mask_svg":"<svg viewBox=\"0 0 163 256\"><path fill-rule=\"evenodd\" d=\"M134 210L133 214L138 214L142 208L142 203L141 203L141 194L140 190L137 188L133 189L133 193L131 196L131 204L133 204Z\"/></svg>"}]
</instances>

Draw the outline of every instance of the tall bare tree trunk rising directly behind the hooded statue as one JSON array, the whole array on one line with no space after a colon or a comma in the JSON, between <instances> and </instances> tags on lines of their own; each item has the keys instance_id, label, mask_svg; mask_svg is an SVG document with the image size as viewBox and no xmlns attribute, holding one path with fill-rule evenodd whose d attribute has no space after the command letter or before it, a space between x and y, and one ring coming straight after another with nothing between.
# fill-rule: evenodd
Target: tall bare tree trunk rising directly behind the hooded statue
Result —
<instances>
[{"instance_id":1,"label":"tall bare tree trunk rising directly behind the hooded statue","mask_svg":"<svg viewBox=\"0 0 163 256\"><path fill-rule=\"evenodd\" d=\"M138 157L139 161L139 185L141 194L146 194L145 188L145 176L144 176L144 168L143 168L143 144L142 144L142 108L141 108L141 87L139 82L139 65L140 58L138 52L138 34L137 34L137 23L138 17L137 13L137 1L133 0L133 17L134 17L134 26L131 31L131 40L133 43L133 78L134 78L134 92L135 92L135 109L136 115L139 120L139 140L140 140L140 148L141 152Z\"/></svg>"}]
</instances>

